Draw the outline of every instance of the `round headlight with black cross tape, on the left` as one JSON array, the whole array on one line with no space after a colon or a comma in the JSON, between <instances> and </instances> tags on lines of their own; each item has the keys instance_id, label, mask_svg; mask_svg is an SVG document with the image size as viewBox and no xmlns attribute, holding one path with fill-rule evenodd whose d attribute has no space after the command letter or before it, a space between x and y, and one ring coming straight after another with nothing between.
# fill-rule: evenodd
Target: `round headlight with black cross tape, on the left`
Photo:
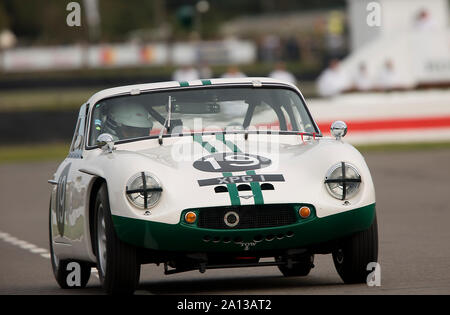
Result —
<instances>
[{"instance_id":1,"label":"round headlight with black cross tape, on the left","mask_svg":"<svg viewBox=\"0 0 450 315\"><path fill-rule=\"evenodd\" d=\"M128 200L139 209L154 207L161 197L162 187L159 180L152 174L141 172L127 183L126 194Z\"/></svg>"}]
</instances>

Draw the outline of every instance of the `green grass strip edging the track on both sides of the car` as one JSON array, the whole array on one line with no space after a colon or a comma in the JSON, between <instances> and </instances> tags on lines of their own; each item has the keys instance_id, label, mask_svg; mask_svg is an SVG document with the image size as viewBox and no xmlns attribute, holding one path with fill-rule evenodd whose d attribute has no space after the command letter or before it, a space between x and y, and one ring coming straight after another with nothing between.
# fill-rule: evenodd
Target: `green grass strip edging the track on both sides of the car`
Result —
<instances>
[{"instance_id":1,"label":"green grass strip edging the track on both sides of the car","mask_svg":"<svg viewBox=\"0 0 450 315\"><path fill-rule=\"evenodd\" d=\"M69 147L68 143L0 146L0 164L60 161L67 156ZM450 142L358 145L356 148L363 153L424 151L450 149Z\"/></svg>"}]
</instances>

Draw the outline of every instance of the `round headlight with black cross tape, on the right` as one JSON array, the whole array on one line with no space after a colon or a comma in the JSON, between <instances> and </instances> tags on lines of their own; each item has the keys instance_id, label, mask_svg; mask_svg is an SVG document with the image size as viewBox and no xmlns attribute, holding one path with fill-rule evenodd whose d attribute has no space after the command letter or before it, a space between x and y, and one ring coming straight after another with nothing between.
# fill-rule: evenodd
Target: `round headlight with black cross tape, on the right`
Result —
<instances>
[{"instance_id":1,"label":"round headlight with black cross tape, on the right","mask_svg":"<svg viewBox=\"0 0 450 315\"><path fill-rule=\"evenodd\" d=\"M349 163L334 165L325 177L328 192L337 199L345 200L353 197L359 191L361 176L356 168Z\"/></svg>"}]
</instances>

